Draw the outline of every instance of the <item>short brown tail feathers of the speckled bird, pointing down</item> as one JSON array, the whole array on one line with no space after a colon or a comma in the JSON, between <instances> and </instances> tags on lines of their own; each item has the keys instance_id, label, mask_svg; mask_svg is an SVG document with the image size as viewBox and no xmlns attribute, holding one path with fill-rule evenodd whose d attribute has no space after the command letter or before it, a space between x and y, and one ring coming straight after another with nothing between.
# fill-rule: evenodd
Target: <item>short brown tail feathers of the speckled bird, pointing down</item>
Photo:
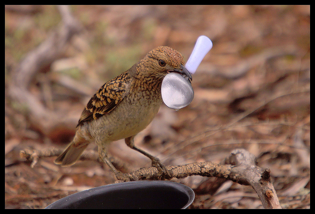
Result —
<instances>
[{"instance_id":1,"label":"short brown tail feathers of the speckled bird, pointing down","mask_svg":"<svg viewBox=\"0 0 315 214\"><path fill-rule=\"evenodd\" d=\"M66 150L58 156L54 163L60 164L62 167L73 165L76 163L77 159L80 158L82 152L88 145L89 141L82 137L77 140L75 136L72 142L67 146Z\"/></svg>"}]
</instances>

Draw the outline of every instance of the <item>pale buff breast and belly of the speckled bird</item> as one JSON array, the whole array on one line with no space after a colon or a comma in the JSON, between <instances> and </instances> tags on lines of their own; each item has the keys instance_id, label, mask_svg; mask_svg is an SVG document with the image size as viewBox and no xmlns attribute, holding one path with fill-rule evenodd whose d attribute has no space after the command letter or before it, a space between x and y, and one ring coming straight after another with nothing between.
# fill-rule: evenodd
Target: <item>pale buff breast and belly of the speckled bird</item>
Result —
<instances>
[{"instance_id":1,"label":"pale buff breast and belly of the speckled bird","mask_svg":"<svg viewBox=\"0 0 315 214\"><path fill-rule=\"evenodd\" d=\"M107 142L138 134L153 120L162 103L161 92L138 91L126 96L109 114L90 123L90 134Z\"/></svg>"}]
</instances>

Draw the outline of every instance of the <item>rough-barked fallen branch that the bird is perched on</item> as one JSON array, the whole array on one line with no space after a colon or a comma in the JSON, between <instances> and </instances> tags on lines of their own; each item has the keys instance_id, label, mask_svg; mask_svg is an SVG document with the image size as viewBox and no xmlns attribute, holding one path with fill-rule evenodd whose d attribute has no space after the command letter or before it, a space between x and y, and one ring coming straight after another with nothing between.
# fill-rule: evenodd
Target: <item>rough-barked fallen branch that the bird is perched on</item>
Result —
<instances>
[{"instance_id":1,"label":"rough-barked fallen branch that the bird is perched on","mask_svg":"<svg viewBox=\"0 0 315 214\"><path fill-rule=\"evenodd\" d=\"M43 151L25 149L20 156L32 161L33 167L39 158L57 156L62 152L59 149L46 149ZM80 159L98 159L96 152L86 151ZM255 156L244 149L235 149L225 159L225 164L212 162L188 163L179 166L166 166L171 178L185 178L191 175L226 178L242 185L252 186L258 194L264 208L281 209L278 196L272 185L270 169L261 169L255 165ZM129 179L116 182L138 180L164 180L165 175L156 167L141 168L128 173Z\"/></svg>"}]
</instances>

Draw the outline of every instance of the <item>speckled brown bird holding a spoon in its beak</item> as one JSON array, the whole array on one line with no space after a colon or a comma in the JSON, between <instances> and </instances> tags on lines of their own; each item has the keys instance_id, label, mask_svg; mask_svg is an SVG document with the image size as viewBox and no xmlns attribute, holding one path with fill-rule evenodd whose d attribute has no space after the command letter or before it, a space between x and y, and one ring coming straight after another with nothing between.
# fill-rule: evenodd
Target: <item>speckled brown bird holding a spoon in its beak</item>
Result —
<instances>
[{"instance_id":1,"label":"speckled brown bird holding a spoon in its beak","mask_svg":"<svg viewBox=\"0 0 315 214\"><path fill-rule=\"evenodd\" d=\"M148 52L126 72L106 82L89 100L76 127L73 140L54 161L61 166L76 163L90 143L98 146L98 155L116 178L118 171L107 156L112 141L124 139L127 146L151 159L152 166L168 174L161 161L135 146L134 137L153 120L162 104L163 78L171 72L192 76L184 66L183 56L168 46ZM168 174L169 175L169 174Z\"/></svg>"}]
</instances>

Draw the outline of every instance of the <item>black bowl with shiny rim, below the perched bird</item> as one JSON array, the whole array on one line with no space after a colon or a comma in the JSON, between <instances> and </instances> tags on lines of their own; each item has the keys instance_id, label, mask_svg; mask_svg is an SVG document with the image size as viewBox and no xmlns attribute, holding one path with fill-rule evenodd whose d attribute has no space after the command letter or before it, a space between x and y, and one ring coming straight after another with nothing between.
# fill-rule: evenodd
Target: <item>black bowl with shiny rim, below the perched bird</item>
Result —
<instances>
[{"instance_id":1,"label":"black bowl with shiny rim, below the perched bird","mask_svg":"<svg viewBox=\"0 0 315 214\"><path fill-rule=\"evenodd\" d=\"M62 198L46 209L186 209L195 194L171 181L130 181L95 187Z\"/></svg>"}]
</instances>

